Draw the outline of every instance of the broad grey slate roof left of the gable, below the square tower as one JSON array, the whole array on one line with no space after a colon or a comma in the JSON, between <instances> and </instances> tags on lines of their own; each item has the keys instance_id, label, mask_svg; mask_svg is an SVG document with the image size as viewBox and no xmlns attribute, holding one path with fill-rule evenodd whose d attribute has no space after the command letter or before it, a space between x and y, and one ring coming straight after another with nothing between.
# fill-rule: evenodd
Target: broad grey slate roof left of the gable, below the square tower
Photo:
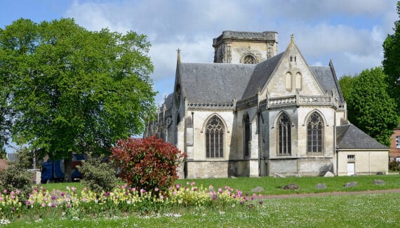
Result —
<instances>
[{"instance_id":1,"label":"broad grey slate roof left of the gable, below the square tower","mask_svg":"<svg viewBox=\"0 0 400 228\"><path fill-rule=\"evenodd\" d=\"M182 90L191 102L240 99L256 65L180 63Z\"/></svg>"}]
</instances>

